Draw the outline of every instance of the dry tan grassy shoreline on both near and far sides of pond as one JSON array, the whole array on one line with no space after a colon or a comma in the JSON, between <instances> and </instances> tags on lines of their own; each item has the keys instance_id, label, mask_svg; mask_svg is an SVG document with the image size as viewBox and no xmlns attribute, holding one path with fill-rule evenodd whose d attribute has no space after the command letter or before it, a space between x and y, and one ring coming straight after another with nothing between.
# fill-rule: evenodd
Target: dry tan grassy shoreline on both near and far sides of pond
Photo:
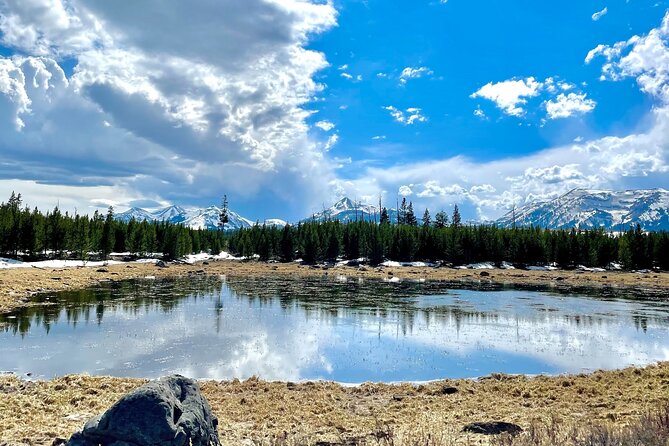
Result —
<instances>
[{"instance_id":1,"label":"dry tan grassy shoreline on both near and far sides of pond","mask_svg":"<svg viewBox=\"0 0 669 446\"><path fill-rule=\"evenodd\" d=\"M482 272L486 274L481 275ZM570 291L614 290L665 298L667 273L459 270L432 267L323 267L242 261L169 264L124 263L106 267L0 270L0 313L40 305L36 293L75 290L108 281L146 277L188 278L346 276L402 281L442 281L457 286L546 287ZM28 380L0 374L0 446L52 444L67 439L92 416L147 380L69 375ZM669 404L669 362L609 371L559 375L493 374L427 382L199 380L220 419L224 444L487 444L462 432L464 425L506 421L523 429L559 420L565 429L622 429ZM445 389L455 388L456 392ZM669 407L669 406L667 406ZM536 424L538 423L538 424ZM391 435L393 443L379 441ZM431 438L432 443L425 438ZM366 443L365 443L366 442ZM483 443L481 443L483 442Z\"/></svg>"}]
</instances>

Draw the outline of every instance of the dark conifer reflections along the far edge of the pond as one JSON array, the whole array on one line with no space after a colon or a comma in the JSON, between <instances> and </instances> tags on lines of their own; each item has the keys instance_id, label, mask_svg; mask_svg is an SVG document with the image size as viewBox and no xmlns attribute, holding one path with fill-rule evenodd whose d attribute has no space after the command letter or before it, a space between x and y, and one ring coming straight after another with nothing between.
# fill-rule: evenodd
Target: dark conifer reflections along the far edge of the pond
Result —
<instances>
[{"instance_id":1,"label":"dark conifer reflections along the far edge of the pond","mask_svg":"<svg viewBox=\"0 0 669 446\"><path fill-rule=\"evenodd\" d=\"M460 288L463 284L459 284ZM379 324L396 324L398 334L412 333L417 320L427 328L451 326L459 332L468 324L500 324L519 322L549 323L564 321L570 325L590 327L610 324L616 315L565 314L534 303L531 314L517 315L511 310L480 310L474 304L453 294L454 283L402 282L385 283L367 280L340 282L325 278L234 278L222 282L219 277L202 276L174 280L135 280L102 284L95 288L66 291L39 298L45 305L27 308L10 316L0 316L0 328L13 334L25 335L33 327L51 326L64 317L67 324L100 324L105 313L172 312L185 299L213 300L216 331L221 330L225 311L225 291L230 298L246 301L255 307L279 306L285 314L299 312L309 319L336 325L343 319L378 319ZM482 284L470 285L474 291L499 291L504 287ZM530 291L530 289L528 289ZM531 291L537 291L536 288ZM437 303L420 296L444 296ZM610 299L607 296L606 299ZM601 301L605 308L606 299ZM517 303L517 302L516 302ZM669 325L669 315L648 316L631 313L634 326L644 332L649 323Z\"/></svg>"}]
</instances>

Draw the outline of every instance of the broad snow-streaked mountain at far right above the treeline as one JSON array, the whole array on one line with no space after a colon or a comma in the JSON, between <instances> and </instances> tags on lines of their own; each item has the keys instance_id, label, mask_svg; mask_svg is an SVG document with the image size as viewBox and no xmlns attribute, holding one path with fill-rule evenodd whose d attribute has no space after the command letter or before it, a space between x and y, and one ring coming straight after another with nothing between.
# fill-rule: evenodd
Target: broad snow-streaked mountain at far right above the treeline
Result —
<instances>
[{"instance_id":1,"label":"broad snow-streaked mountain at far right above the treeline","mask_svg":"<svg viewBox=\"0 0 669 446\"><path fill-rule=\"evenodd\" d=\"M574 189L547 202L529 203L499 220L502 227L604 228L624 231L637 223L648 231L669 230L669 191Z\"/></svg>"}]
</instances>

